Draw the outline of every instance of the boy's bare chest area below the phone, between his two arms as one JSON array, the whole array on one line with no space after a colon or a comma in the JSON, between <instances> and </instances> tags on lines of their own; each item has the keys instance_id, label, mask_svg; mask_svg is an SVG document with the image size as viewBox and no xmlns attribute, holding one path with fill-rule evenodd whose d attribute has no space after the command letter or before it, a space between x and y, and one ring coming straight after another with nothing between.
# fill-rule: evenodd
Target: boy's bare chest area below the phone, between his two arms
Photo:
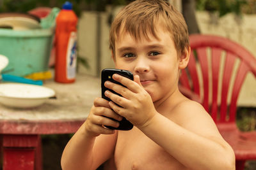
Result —
<instances>
[{"instance_id":1,"label":"boy's bare chest area below the phone, between his two arms","mask_svg":"<svg viewBox=\"0 0 256 170\"><path fill-rule=\"evenodd\" d=\"M184 169L169 153L136 127L119 131L115 149L116 169Z\"/></svg>"}]
</instances>

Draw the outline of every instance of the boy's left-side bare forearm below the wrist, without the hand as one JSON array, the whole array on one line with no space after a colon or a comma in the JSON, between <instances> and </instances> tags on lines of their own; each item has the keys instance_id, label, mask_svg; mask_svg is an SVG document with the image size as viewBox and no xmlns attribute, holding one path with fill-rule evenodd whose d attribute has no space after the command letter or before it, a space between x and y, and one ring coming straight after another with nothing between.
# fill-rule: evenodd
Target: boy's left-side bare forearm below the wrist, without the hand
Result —
<instances>
[{"instance_id":1,"label":"boy's left-side bare forearm below the wrist, without the hand","mask_svg":"<svg viewBox=\"0 0 256 170\"><path fill-rule=\"evenodd\" d=\"M117 131L97 138L86 136L83 124L65 146L61 157L62 169L97 169L113 155L116 136Z\"/></svg>"}]
</instances>

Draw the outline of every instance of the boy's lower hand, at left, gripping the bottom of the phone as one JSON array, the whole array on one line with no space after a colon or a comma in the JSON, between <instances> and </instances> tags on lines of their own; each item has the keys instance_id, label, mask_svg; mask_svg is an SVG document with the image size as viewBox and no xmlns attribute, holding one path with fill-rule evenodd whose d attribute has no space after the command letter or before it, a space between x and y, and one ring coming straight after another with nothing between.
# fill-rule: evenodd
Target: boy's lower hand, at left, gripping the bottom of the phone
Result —
<instances>
[{"instance_id":1,"label":"boy's lower hand, at left, gripping the bottom of the phone","mask_svg":"<svg viewBox=\"0 0 256 170\"><path fill-rule=\"evenodd\" d=\"M94 100L90 114L88 115L88 118L85 122L86 135L96 137L100 134L113 134L115 130L107 129L103 126L119 126L118 122L111 120L110 118L114 118L115 120L119 121L122 120L120 115L111 110L107 100L97 97Z\"/></svg>"}]
</instances>

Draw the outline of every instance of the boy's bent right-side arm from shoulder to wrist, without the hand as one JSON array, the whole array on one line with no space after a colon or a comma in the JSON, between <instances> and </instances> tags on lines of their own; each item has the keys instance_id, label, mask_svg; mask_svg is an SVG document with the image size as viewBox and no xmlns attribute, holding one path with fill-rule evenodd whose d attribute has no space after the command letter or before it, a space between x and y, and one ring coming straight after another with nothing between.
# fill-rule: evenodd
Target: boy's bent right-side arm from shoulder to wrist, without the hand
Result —
<instances>
[{"instance_id":1,"label":"boy's bent right-side arm from shoulder to wrist, without the hand","mask_svg":"<svg viewBox=\"0 0 256 170\"><path fill-rule=\"evenodd\" d=\"M139 129L186 167L235 169L232 148L221 137L204 108L193 101L186 101L177 108L182 119L186 117L182 125L156 114L146 126ZM175 110L173 114L177 114Z\"/></svg>"}]
</instances>

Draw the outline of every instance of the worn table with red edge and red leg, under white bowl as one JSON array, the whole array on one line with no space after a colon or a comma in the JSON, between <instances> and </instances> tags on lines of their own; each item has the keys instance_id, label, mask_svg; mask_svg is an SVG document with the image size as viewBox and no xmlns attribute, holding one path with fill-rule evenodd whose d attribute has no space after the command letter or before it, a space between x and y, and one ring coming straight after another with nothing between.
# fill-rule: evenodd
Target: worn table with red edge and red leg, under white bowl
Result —
<instances>
[{"instance_id":1,"label":"worn table with red edge and red leg, under white bowl","mask_svg":"<svg viewBox=\"0 0 256 170\"><path fill-rule=\"evenodd\" d=\"M74 133L83 124L95 97L100 96L99 78L78 74L75 83L44 82L57 99L31 109L7 108L0 104L0 134L3 169L41 170L40 134Z\"/></svg>"}]
</instances>

